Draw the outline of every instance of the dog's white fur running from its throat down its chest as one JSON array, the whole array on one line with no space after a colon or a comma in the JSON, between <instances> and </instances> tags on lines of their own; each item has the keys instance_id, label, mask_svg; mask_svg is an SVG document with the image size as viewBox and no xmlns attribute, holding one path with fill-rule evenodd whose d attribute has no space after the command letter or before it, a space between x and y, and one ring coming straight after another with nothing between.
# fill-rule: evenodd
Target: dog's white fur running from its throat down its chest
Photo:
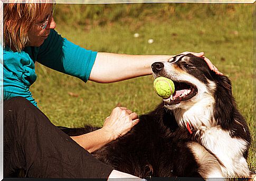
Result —
<instances>
[{"instance_id":1,"label":"dog's white fur running from its throat down its chest","mask_svg":"<svg viewBox=\"0 0 256 181\"><path fill-rule=\"evenodd\" d=\"M213 106L214 98L207 95L187 110L175 109L174 115L179 126L186 127L186 123L189 123L197 130L199 143L219 161L222 173L214 170L215 173L210 173L209 176L248 177L250 171L243 157L248 143L243 139L231 137L228 131L215 126L216 121L212 120Z\"/></svg>"}]
</instances>

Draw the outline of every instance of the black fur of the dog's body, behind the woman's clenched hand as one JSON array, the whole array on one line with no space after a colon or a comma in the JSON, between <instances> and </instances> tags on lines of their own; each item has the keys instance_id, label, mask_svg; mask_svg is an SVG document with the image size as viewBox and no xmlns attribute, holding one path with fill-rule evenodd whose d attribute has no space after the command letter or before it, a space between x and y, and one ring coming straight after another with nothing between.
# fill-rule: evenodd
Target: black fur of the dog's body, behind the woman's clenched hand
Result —
<instances>
[{"instance_id":1,"label":"black fur of the dog's body, behind the woman's clenched hand","mask_svg":"<svg viewBox=\"0 0 256 181\"><path fill-rule=\"evenodd\" d=\"M126 135L92 154L103 163L132 175L153 177L200 177L197 162L185 146L192 135L179 128L172 113L159 105L141 115L139 123ZM70 136L88 133L86 128L62 128ZM90 132L89 131L89 132Z\"/></svg>"}]
</instances>

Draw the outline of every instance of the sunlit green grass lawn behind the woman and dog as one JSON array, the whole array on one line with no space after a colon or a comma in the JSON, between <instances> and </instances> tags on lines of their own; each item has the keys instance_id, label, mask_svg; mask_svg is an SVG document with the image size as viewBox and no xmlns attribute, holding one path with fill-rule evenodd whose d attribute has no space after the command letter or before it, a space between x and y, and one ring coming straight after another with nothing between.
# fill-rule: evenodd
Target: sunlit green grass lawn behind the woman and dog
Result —
<instances>
[{"instance_id":1,"label":"sunlit green grass lawn behind the woman and dog","mask_svg":"<svg viewBox=\"0 0 256 181\"><path fill-rule=\"evenodd\" d=\"M167 55L204 51L232 81L236 103L252 134L248 163L256 170L251 4L57 5L55 20L62 36L93 51ZM140 36L134 38L134 33ZM147 43L149 38L153 44ZM117 105L145 114L161 101L151 76L84 84L40 64L36 73L31 92L55 125L101 126Z\"/></svg>"}]
</instances>

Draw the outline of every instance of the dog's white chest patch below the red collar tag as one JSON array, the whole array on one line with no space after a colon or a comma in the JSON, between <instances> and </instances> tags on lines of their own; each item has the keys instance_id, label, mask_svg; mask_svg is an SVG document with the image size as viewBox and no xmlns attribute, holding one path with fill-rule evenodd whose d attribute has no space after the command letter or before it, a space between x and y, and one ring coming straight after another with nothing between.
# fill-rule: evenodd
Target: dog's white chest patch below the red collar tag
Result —
<instances>
[{"instance_id":1,"label":"dog's white chest patch below the red collar tag","mask_svg":"<svg viewBox=\"0 0 256 181\"><path fill-rule=\"evenodd\" d=\"M221 163L225 177L248 177L250 171L243 157L248 143L240 138L231 137L230 133L220 126L198 129L200 143L212 152Z\"/></svg>"}]
</instances>

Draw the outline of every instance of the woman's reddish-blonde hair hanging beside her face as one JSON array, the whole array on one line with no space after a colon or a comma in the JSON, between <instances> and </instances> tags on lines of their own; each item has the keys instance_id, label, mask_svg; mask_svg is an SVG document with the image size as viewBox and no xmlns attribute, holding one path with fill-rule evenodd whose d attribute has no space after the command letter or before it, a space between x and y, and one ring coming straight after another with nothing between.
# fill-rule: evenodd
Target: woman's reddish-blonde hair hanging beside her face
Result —
<instances>
[{"instance_id":1,"label":"woman's reddish-blonde hair hanging beside her face","mask_svg":"<svg viewBox=\"0 0 256 181\"><path fill-rule=\"evenodd\" d=\"M46 2L47 1L47 2ZM27 33L51 0L12 0L4 4L4 47L21 52L29 42Z\"/></svg>"}]
</instances>

